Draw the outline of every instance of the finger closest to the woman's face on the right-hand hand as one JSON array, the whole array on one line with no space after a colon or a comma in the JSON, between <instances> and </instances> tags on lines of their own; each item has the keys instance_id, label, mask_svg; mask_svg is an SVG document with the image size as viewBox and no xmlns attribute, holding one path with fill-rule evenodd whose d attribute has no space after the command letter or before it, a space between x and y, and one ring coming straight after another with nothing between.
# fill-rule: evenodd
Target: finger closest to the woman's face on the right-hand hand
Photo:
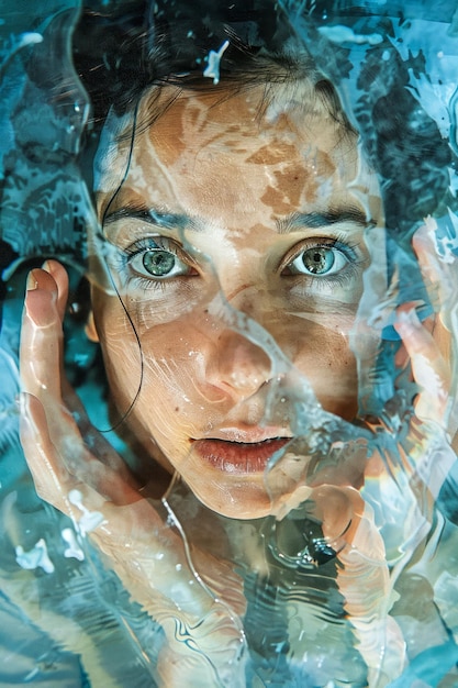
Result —
<instances>
[{"instance_id":1,"label":"finger closest to the woman's face on the right-hand hand","mask_svg":"<svg viewBox=\"0 0 458 688\"><path fill-rule=\"evenodd\" d=\"M418 320L415 309L404 304L396 312L394 328L411 359L414 380L422 390L415 403L415 414L422 420L444 424L449 396L449 366L433 334Z\"/></svg>"}]
</instances>

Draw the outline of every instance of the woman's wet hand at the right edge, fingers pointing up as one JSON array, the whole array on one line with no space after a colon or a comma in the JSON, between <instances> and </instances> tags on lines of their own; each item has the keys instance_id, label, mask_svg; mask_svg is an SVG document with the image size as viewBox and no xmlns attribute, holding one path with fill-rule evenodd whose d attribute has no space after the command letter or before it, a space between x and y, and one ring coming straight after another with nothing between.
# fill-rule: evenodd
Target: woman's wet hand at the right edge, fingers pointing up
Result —
<instances>
[{"instance_id":1,"label":"woman's wet hand at the right edge, fingers pointing up","mask_svg":"<svg viewBox=\"0 0 458 688\"><path fill-rule=\"evenodd\" d=\"M426 222L415 234L413 247L429 299L433 303L438 302L440 310L422 323L413 304L403 304L398 309L394 326L418 389L406 448L414 471L436 498L456 460L453 447L458 417L456 400L450 396L454 351L451 333L444 323L454 309L457 287L453 274L455 266L439 263L431 237L434 228L429 224Z\"/></svg>"}]
</instances>

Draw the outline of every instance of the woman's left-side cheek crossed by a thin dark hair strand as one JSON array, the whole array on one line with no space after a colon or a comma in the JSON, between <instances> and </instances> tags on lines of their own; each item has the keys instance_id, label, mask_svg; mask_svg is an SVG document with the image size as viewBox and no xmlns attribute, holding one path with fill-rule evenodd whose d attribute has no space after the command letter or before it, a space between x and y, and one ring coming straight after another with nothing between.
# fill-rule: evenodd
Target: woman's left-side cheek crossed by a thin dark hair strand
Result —
<instances>
[{"instance_id":1,"label":"woman's left-side cheek crossed by a thin dark hair strand","mask_svg":"<svg viewBox=\"0 0 458 688\"><path fill-rule=\"evenodd\" d=\"M99 314L103 358L111 398L120 418L150 448L158 443L167 455L181 455L182 436L192 434L201 414L194 393L196 342L181 321L137 332L122 304ZM180 440L181 437L181 440ZM185 452L188 451L185 446Z\"/></svg>"}]
</instances>

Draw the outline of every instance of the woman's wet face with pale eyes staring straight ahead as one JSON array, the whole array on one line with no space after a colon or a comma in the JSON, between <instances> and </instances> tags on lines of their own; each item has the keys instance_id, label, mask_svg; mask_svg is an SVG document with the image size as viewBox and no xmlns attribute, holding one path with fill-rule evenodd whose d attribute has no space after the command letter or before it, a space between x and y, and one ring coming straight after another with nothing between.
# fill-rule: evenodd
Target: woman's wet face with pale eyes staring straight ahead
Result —
<instances>
[{"instance_id":1,"label":"woman's wet face with pale eyes staring straight ahead","mask_svg":"<svg viewBox=\"0 0 458 688\"><path fill-rule=\"evenodd\" d=\"M153 99L167 110L98 196L118 293L96 287L93 312L114 403L134 402L125 422L149 456L237 518L269 512L266 466L294 433L288 395L272 396L287 359L315 409L355 417L348 335L365 229L382 222L355 134L300 88L264 93L150 91L139 121ZM107 175L130 149L125 136Z\"/></svg>"}]
</instances>

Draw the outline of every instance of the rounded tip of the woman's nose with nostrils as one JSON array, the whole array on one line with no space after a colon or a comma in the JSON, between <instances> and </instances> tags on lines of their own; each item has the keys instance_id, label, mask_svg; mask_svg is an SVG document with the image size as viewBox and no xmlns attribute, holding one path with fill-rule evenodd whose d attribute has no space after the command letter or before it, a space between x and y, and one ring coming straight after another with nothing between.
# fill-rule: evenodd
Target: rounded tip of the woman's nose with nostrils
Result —
<instances>
[{"instance_id":1,"label":"rounded tip of the woman's nose with nostrils","mask_svg":"<svg viewBox=\"0 0 458 688\"><path fill-rule=\"evenodd\" d=\"M208 359L206 382L222 397L241 401L255 395L270 377L270 359L266 352L247 336L224 330L214 342Z\"/></svg>"}]
</instances>

